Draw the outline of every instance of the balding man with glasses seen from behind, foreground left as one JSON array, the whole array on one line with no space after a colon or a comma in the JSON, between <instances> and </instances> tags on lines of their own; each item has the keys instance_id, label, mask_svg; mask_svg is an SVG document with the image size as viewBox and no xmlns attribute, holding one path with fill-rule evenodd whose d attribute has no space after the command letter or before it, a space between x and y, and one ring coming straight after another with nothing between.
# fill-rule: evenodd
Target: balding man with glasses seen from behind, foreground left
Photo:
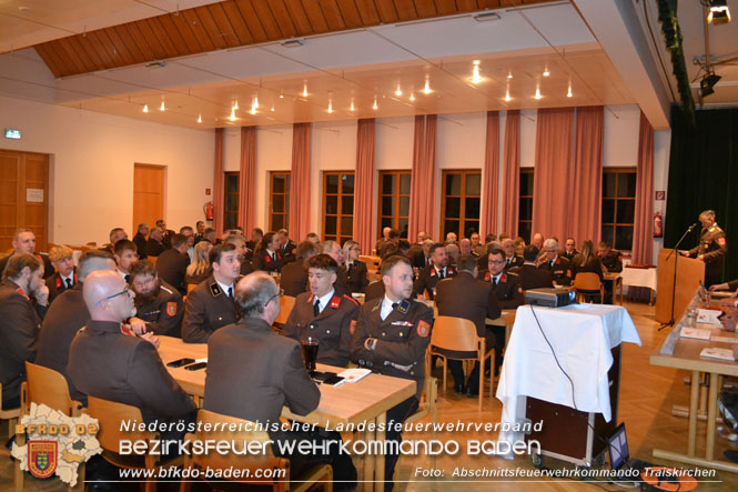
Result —
<instances>
[{"instance_id":1,"label":"balding man with glasses seen from behind, foreground left","mask_svg":"<svg viewBox=\"0 0 738 492\"><path fill-rule=\"evenodd\" d=\"M74 388L137 406L145 422L194 421L195 404L166 372L158 339L123 332L123 320L135 314L135 294L123 279L111 270L92 272L82 293L90 322L69 349L67 373Z\"/></svg>"}]
</instances>

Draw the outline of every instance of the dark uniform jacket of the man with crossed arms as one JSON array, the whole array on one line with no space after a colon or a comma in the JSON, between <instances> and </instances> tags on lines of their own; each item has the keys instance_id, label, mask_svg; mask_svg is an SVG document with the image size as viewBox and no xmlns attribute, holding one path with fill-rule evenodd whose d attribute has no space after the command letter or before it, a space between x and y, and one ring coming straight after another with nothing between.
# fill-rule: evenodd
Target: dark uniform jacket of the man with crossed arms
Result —
<instances>
[{"instance_id":1,"label":"dark uniform jacket of the man with crossed arms","mask_svg":"<svg viewBox=\"0 0 738 492\"><path fill-rule=\"evenodd\" d=\"M433 310L419 301L406 299L384 321L381 311L382 299L362 305L351 340L351 360L378 374L414 380L415 396L419 399L425 380L425 350L433 329ZM374 350L364 347L368 338L377 340Z\"/></svg>"}]
</instances>

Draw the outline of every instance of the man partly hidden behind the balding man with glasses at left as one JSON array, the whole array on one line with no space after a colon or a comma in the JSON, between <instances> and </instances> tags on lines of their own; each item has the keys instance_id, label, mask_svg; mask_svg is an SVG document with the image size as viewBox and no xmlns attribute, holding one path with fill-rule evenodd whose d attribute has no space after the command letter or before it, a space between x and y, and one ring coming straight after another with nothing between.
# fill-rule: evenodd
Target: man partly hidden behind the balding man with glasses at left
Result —
<instances>
[{"instance_id":1,"label":"man partly hidden behind the balding man with glasses at left","mask_svg":"<svg viewBox=\"0 0 738 492\"><path fill-rule=\"evenodd\" d=\"M115 247L120 247L122 242L119 241ZM82 297L82 287L90 273L98 270L115 271L113 255L104 250L90 250L82 253L78 271L79 282L61 294L49 307L49 312L43 318L36 357L37 364L63 374L69 383L69 393L72 399L82 402L85 401L84 395L71 384L67 374L67 363L69 362L69 347L72 344L74 335L90 321L90 311Z\"/></svg>"}]
</instances>

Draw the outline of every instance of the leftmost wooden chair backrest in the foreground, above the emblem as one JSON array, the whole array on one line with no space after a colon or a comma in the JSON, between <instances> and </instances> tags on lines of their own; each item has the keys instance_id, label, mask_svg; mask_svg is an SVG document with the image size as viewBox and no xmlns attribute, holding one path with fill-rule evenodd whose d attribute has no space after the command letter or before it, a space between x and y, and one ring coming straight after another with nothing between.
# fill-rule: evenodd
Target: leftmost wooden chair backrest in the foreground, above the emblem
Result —
<instances>
[{"instance_id":1,"label":"leftmost wooden chair backrest in the foreground, above the emblem","mask_svg":"<svg viewBox=\"0 0 738 492\"><path fill-rule=\"evenodd\" d=\"M23 412L31 402L44 404L69 416L78 416L82 404L69 396L67 380L53 369L26 362L26 391L21 393Z\"/></svg>"}]
</instances>

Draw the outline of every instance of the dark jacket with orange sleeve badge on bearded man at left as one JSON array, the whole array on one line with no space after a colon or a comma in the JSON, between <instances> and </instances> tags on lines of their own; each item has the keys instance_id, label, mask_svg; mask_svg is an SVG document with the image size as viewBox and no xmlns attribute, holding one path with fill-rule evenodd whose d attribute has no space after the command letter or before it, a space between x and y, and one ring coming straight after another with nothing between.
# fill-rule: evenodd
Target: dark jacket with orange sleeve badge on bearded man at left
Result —
<instances>
[{"instance_id":1,"label":"dark jacket with orange sleeve badge on bearded man at left","mask_svg":"<svg viewBox=\"0 0 738 492\"><path fill-rule=\"evenodd\" d=\"M143 299L137 295L134 301L135 317L146 322L148 331L153 331L156 335L182 337L182 294L172 285L162 281L153 299L143 302Z\"/></svg>"}]
</instances>

